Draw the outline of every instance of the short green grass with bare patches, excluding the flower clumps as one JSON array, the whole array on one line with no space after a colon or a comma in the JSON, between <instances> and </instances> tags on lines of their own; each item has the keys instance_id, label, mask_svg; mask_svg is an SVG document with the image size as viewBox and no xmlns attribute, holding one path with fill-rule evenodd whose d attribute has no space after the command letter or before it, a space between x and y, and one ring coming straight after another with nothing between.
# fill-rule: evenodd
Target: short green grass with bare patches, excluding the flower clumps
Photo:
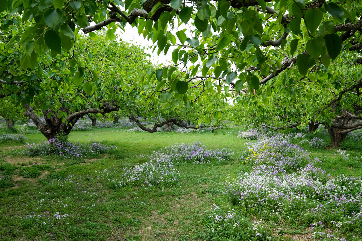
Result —
<instances>
[{"instance_id":1,"label":"short green grass with bare patches, excluding the flower clumps","mask_svg":"<svg viewBox=\"0 0 362 241\"><path fill-rule=\"evenodd\" d=\"M218 135L150 134L117 129L72 132L72 142L107 140L119 146L115 154L85 160L13 156L12 149L24 144L1 144L0 164L12 165L16 186L0 189L0 240L208 240L200 214L214 203L227 205L221 183L228 173L251 169L237 160L245 150L247 140L236 138L236 134L237 129ZM29 143L45 140L41 134L28 134L26 137ZM95 170L121 169L127 163L144 162L137 155L149 154L170 143L196 140L211 149L232 149L232 161L223 165L178 166L181 182L167 188L140 186L113 189L97 179L94 173ZM312 156L323 160L320 165L331 175L362 174L361 163L337 161L339 159L333 155L334 152L314 151ZM40 170L41 176L26 178L19 175L22 168L34 163L44 166ZM69 181L63 182L64 178ZM26 218L27 215L36 217ZM53 220L54 215L60 215L60 219L53 222L53 227L46 226L49 225L47 220ZM284 223L269 226L286 230L283 235L275 234L273 240L291 240L296 236L303 239L303 235L306 237L310 233Z\"/></svg>"}]
</instances>

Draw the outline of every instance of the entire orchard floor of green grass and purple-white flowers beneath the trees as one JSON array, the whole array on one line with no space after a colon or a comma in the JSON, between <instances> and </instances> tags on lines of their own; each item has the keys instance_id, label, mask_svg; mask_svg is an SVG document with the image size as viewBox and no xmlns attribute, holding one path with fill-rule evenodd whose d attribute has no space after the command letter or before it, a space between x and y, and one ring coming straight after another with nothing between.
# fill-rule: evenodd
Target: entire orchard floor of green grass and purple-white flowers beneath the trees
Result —
<instances>
[{"instance_id":1,"label":"entire orchard floor of green grass and purple-white flowers beneath the trees","mask_svg":"<svg viewBox=\"0 0 362 241\"><path fill-rule=\"evenodd\" d=\"M1 240L362 240L362 132L112 125L1 135Z\"/></svg>"}]
</instances>

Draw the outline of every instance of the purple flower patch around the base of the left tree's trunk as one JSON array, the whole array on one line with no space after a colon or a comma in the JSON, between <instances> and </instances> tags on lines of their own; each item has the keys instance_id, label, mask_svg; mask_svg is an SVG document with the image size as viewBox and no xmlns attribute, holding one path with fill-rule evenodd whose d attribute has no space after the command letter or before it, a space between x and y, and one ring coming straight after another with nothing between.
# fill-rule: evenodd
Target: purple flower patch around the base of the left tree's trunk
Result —
<instances>
[{"instance_id":1,"label":"purple flower patch around the base of the left tree's trunk","mask_svg":"<svg viewBox=\"0 0 362 241\"><path fill-rule=\"evenodd\" d=\"M26 145L21 154L28 156L59 155L61 158L66 159L97 157L99 154L110 153L117 149L117 146L102 142L72 143L71 141L61 141L57 138L52 138L42 144L26 143Z\"/></svg>"}]
</instances>

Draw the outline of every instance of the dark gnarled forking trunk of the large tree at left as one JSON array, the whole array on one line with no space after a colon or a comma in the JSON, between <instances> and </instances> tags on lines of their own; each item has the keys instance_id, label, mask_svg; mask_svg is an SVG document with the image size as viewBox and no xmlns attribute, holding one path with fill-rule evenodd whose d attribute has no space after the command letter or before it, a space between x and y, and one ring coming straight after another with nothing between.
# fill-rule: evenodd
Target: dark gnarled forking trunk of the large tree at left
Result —
<instances>
[{"instance_id":1,"label":"dark gnarled forking trunk of the large tree at left","mask_svg":"<svg viewBox=\"0 0 362 241\"><path fill-rule=\"evenodd\" d=\"M66 122L63 122L62 119L59 119L58 112L52 111L51 109L47 109L43 112L43 116L45 118L45 124L39 119L39 117L34 113L33 108L29 104L25 104L26 112L24 113L25 116L28 116L31 120L33 120L34 124L38 127L38 130L49 140L52 138L56 138L56 135L59 133L69 134L72 130L73 126L79 120L79 118L82 118L85 115L88 115L90 113L110 113L112 111L118 111L119 107L115 106L112 103L105 102L102 104L102 107L100 109L95 108L89 108L85 110L80 110L71 113L70 110L66 109L64 106L60 107L59 110L66 112L68 117L66 120L68 121L68 124ZM52 113L51 117L48 117L48 113Z\"/></svg>"}]
</instances>

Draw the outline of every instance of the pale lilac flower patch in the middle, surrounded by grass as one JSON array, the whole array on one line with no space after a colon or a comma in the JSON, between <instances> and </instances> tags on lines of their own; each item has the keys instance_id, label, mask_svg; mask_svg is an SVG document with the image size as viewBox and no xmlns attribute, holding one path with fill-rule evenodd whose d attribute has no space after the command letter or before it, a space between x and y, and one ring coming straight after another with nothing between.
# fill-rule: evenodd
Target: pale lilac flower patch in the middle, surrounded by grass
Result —
<instances>
[{"instance_id":1,"label":"pale lilac flower patch in the middle, surrounded by grass","mask_svg":"<svg viewBox=\"0 0 362 241\"><path fill-rule=\"evenodd\" d=\"M180 179L180 172L176 164L190 162L193 164L224 162L232 155L231 150L208 150L200 141L194 143L181 143L165 147L161 151L153 151L146 158L149 161L122 168L121 175L118 169L104 169L95 171L97 178L106 179L114 188L134 185L170 186Z\"/></svg>"}]
</instances>

